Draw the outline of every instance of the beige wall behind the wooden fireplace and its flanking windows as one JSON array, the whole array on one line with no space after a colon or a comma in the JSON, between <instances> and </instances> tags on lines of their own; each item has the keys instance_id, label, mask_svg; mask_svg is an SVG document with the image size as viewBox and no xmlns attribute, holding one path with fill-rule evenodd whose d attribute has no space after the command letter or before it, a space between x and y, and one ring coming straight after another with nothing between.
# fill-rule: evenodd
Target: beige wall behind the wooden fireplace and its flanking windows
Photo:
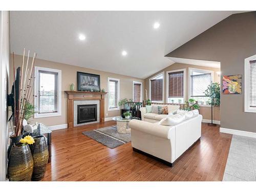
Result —
<instances>
[{"instance_id":1,"label":"beige wall behind the wooden fireplace and its flanking windows","mask_svg":"<svg viewBox=\"0 0 256 192\"><path fill-rule=\"evenodd\" d=\"M22 56L15 55L15 64L21 65L22 63ZM77 66L66 65L63 63L47 61L42 59L36 59L35 66L38 67L46 67L52 69L61 70L61 116L57 117L46 117L46 118L36 118L33 121L44 123L48 126L51 125L59 125L59 124L66 124L67 123L67 94L64 91L70 90L70 84L73 82L75 85L75 90L77 90L77 75L76 72L86 72L86 73L93 73L100 75L100 89L108 90L107 88L107 79L108 77L118 78L120 79L120 99L122 98L133 98L133 81L140 81L143 82L144 86L144 79L118 75L114 73L108 73L88 68L82 68ZM12 69L12 57L11 57L11 66ZM12 70L10 70L10 76L12 76ZM12 85L13 81L10 82L10 86ZM108 114L108 115L107 115ZM105 98L105 118L106 117L114 117L120 115L120 111L108 111L108 102L107 97Z\"/></svg>"}]
</instances>

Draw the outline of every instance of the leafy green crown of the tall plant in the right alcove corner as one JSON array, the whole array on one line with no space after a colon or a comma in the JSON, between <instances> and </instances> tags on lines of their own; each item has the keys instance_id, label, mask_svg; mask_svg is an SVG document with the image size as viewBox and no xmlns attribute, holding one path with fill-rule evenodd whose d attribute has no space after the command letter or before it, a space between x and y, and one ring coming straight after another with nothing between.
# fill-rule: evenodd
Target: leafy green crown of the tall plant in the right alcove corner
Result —
<instances>
[{"instance_id":1,"label":"leafy green crown of the tall plant in the right alcove corner","mask_svg":"<svg viewBox=\"0 0 256 192\"><path fill-rule=\"evenodd\" d=\"M205 96L209 97L209 104L213 106L220 106L221 104L221 88L218 82L214 82L209 84L207 89L205 90Z\"/></svg>"}]
</instances>

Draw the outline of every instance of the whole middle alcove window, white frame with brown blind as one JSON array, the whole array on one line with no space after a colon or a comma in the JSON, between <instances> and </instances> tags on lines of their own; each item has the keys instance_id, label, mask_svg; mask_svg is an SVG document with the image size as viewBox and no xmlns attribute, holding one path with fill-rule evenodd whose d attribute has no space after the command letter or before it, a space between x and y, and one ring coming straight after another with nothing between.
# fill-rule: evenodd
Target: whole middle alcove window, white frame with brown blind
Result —
<instances>
[{"instance_id":1,"label":"whole middle alcove window, white frame with brown blind","mask_svg":"<svg viewBox=\"0 0 256 192\"><path fill-rule=\"evenodd\" d=\"M167 71L167 103L184 103L186 69Z\"/></svg>"}]
</instances>

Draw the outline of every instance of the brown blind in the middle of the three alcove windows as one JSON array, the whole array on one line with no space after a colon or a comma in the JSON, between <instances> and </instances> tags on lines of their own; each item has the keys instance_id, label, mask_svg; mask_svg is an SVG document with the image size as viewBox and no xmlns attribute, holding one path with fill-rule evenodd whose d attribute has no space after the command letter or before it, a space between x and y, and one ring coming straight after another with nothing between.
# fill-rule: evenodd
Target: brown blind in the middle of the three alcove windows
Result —
<instances>
[{"instance_id":1,"label":"brown blind in the middle of the three alcove windows","mask_svg":"<svg viewBox=\"0 0 256 192\"><path fill-rule=\"evenodd\" d=\"M184 72L168 73L168 97L183 97Z\"/></svg>"}]
</instances>

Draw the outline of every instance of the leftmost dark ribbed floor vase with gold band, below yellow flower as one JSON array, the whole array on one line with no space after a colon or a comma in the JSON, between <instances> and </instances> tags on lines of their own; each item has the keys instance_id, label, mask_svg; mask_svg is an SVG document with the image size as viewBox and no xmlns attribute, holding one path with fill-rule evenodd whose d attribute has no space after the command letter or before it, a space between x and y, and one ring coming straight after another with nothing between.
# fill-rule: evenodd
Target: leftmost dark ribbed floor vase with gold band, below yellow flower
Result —
<instances>
[{"instance_id":1,"label":"leftmost dark ribbed floor vase with gold band, below yellow flower","mask_svg":"<svg viewBox=\"0 0 256 192\"><path fill-rule=\"evenodd\" d=\"M7 175L9 181L31 181L33 157L29 145L18 143L12 146L8 161Z\"/></svg>"}]
</instances>

